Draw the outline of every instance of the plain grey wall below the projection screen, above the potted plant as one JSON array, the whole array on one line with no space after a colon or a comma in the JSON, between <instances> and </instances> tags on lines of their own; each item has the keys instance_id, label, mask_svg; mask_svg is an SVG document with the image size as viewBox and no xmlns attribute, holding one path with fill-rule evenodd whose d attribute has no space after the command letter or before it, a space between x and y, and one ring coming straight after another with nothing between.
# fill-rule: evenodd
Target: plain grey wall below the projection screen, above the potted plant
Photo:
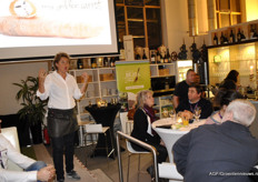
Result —
<instances>
[{"instance_id":1,"label":"plain grey wall below the projection screen, above the potted plant","mask_svg":"<svg viewBox=\"0 0 258 182\"><path fill-rule=\"evenodd\" d=\"M37 77L40 68L48 69L47 62L0 64L0 115L17 113L20 103L16 100L20 83L28 75Z\"/></svg>"}]
</instances>

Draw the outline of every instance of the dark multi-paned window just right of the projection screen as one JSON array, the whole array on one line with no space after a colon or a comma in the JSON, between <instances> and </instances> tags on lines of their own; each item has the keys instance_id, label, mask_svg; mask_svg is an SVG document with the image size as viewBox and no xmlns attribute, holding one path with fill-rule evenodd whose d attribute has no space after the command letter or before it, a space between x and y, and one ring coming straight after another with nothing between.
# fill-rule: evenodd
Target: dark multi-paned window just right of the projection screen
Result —
<instances>
[{"instance_id":1,"label":"dark multi-paned window just right of the projection screen","mask_svg":"<svg viewBox=\"0 0 258 182\"><path fill-rule=\"evenodd\" d=\"M162 43L160 0L117 0L119 42L132 34L133 44L156 49Z\"/></svg>"}]
</instances>

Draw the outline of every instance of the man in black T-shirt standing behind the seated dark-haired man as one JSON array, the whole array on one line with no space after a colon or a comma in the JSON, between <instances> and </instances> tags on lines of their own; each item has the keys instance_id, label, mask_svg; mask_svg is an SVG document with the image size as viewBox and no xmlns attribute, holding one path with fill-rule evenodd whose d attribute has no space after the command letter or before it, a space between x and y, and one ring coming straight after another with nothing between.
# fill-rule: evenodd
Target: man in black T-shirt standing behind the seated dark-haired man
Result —
<instances>
[{"instance_id":1,"label":"man in black T-shirt standing behind the seated dark-haired man","mask_svg":"<svg viewBox=\"0 0 258 182\"><path fill-rule=\"evenodd\" d=\"M188 88L196 82L196 72L192 69L187 71L186 80L177 83L173 92L173 107L177 108L178 104L183 100L188 99Z\"/></svg>"}]
</instances>

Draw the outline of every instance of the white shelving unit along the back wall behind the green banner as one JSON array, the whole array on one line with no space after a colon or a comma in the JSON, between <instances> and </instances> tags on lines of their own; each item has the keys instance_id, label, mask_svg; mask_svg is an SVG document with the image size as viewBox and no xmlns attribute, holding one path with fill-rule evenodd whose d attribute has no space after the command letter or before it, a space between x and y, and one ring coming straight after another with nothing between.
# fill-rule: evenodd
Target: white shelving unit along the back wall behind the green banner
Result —
<instances>
[{"instance_id":1,"label":"white shelving unit along the back wall behind the green banner","mask_svg":"<svg viewBox=\"0 0 258 182\"><path fill-rule=\"evenodd\" d=\"M169 78L177 77L176 70L177 63L160 63L160 64L150 64L151 78ZM97 69L81 69L81 70L70 70L70 73L77 79L78 85L82 85L80 75L87 72L90 75L90 81L86 94L77 101L78 114L80 115L81 121L90 121L92 118L85 110L86 105L96 104L97 99L106 100L110 102L112 98L118 98L117 91L117 79L116 79L116 68L97 68ZM103 79L103 74L107 75ZM177 79L176 79L177 80ZM175 88L169 88L167 91L173 91ZM162 95L156 97L156 109L161 113L162 108L172 107L172 95ZM162 115L161 115L162 117Z\"/></svg>"}]
</instances>

